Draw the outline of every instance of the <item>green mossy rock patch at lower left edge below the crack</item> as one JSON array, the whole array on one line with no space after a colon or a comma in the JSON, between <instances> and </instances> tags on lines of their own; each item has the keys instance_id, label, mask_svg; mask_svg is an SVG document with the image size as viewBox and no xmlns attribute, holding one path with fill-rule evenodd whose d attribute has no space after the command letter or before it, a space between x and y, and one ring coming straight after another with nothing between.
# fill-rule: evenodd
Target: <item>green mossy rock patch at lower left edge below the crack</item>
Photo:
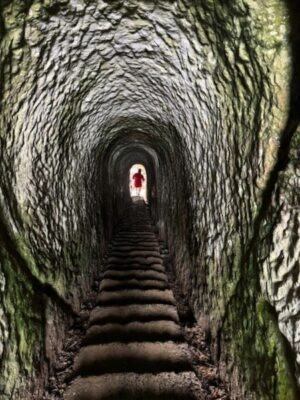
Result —
<instances>
[{"instance_id":1,"label":"green mossy rock patch at lower left edge below the crack","mask_svg":"<svg viewBox=\"0 0 300 400\"><path fill-rule=\"evenodd\" d=\"M30 376L34 371L36 351L43 337L43 302L21 269L5 255L1 260L6 279L3 302L9 321L9 340L0 385L9 393L20 384L21 376Z\"/></svg>"}]
</instances>

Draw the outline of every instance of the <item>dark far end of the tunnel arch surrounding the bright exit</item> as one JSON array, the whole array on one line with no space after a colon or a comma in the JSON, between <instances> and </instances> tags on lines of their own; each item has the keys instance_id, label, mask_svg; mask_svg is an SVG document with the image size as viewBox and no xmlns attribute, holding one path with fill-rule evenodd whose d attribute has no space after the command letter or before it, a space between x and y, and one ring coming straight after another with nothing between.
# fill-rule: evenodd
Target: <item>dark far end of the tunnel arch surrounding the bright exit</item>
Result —
<instances>
[{"instance_id":1,"label":"dark far end of the tunnel arch surrounding the bright exit","mask_svg":"<svg viewBox=\"0 0 300 400\"><path fill-rule=\"evenodd\" d=\"M139 121L143 128L136 130L135 120L128 120L126 123L130 128L115 133L115 138L106 151L101 152L96 164L98 167L95 169L95 174L99 174L95 178L99 182L99 186L95 188L98 193L96 196L102 194L101 211L107 238L111 238L114 226L131 203L127 185L128 170L133 164L141 163L148 174L151 216L161 237L167 240L167 218L173 220L173 207L178 212L185 212L185 201L181 201L181 198L183 194L187 195L188 182L191 179L187 176L188 170L182 168L182 165L188 164L182 140L174 128L170 130L170 127L163 127L162 124L159 126ZM180 161L176 168L174 159ZM182 182L184 190L176 182Z\"/></svg>"}]
</instances>

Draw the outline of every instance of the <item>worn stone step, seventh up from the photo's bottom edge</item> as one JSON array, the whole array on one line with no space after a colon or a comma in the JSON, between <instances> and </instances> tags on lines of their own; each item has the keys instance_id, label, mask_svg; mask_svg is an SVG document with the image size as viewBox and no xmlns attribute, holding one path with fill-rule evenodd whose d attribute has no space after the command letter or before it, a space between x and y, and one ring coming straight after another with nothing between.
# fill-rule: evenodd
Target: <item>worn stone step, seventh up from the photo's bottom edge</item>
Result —
<instances>
[{"instance_id":1,"label":"worn stone step, seventh up from the photo's bottom edge","mask_svg":"<svg viewBox=\"0 0 300 400\"><path fill-rule=\"evenodd\" d=\"M145 280L145 279L152 279L162 282L167 282L167 275L164 272L158 272L151 269L144 269L144 270L107 270L103 274L104 279L117 279L117 280L129 280L129 279L136 279L136 280Z\"/></svg>"}]
</instances>

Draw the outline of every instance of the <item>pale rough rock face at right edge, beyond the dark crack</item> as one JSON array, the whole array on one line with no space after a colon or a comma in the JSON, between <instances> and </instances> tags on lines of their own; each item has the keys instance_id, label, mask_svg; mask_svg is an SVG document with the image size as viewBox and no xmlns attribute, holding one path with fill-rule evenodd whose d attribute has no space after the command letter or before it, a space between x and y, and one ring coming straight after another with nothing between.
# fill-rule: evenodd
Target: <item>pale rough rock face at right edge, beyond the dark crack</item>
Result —
<instances>
[{"instance_id":1,"label":"pale rough rock face at right edge, beyond the dark crack","mask_svg":"<svg viewBox=\"0 0 300 400\"><path fill-rule=\"evenodd\" d=\"M274 308L300 382L300 131L294 135L289 165L280 172L271 208L263 223L263 293ZM271 232L270 235L270 226ZM293 364L292 364L293 365Z\"/></svg>"}]
</instances>

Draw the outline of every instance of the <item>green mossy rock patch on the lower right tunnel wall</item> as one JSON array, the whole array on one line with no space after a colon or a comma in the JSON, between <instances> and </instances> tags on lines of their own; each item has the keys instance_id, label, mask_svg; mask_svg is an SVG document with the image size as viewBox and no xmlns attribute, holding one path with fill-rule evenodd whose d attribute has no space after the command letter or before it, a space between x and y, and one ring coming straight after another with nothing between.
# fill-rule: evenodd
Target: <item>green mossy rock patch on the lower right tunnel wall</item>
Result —
<instances>
[{"instance_id":1,"label":"green mossy rock patch on the lower right tunnel wall","mask_svg":"<svg viewBox=\"0 0 300 400\"><path fill-rule=\"evenodd\" d=\"M244 266L243 279L232 297L227 297L222 327L226 351L251 398L296 400L298 389L288 343L278 328L276 312L259 294L254 271L253 266ZM224 287L230 289L230 285Z\"/></svg>"}]
</instances>

